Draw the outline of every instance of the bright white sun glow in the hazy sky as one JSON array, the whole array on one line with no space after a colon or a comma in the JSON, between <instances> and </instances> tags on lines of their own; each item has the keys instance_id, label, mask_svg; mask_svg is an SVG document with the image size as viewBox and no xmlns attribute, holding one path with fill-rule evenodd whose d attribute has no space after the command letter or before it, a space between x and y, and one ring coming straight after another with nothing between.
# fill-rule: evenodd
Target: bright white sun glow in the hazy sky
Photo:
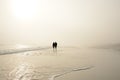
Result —
<instances>
[{"instance_id":1,"label":"bright white sun glow in the hazy sky","mask_svg":"<svg viewBox=\"0 0 120 80\"><path fill-rule=\"evenodd\" d=\"M16 18L29 19L37 13L37 0L13 0L12 13Z\"/></svg>"}]
</instances>

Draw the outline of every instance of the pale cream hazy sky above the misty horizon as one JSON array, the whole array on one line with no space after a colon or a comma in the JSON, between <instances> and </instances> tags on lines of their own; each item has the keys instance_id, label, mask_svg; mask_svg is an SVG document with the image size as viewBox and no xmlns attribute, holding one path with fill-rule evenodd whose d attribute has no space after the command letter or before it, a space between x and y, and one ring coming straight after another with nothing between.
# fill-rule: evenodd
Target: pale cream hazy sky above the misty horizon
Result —
<instances>
[{"instance_id":1,"label":"pale cream hazy sky above the misty horizon","mask_svg":"<svg viewBox=\"0 0 120 80\"><path fill-rule=\"evenodd\" d=\"M0 44L120 43L120 0L0 0Z\"/></svg>"}]
</instances>

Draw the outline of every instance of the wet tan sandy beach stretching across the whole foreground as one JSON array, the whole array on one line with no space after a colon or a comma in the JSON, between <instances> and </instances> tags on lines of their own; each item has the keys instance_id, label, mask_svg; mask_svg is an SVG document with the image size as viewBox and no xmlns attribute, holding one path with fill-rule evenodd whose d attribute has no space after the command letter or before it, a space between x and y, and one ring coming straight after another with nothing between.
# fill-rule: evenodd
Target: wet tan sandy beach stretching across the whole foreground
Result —
<instances>
[{"instance_id":1,"label":"wet tan sandy beach stretching across the whole foreground","mask_svg":"<svg viewBox=\"0 0 120 80\"><path fill-rule=\"evenodd\" d=\"M64 47L0 55L0 80L120 80L119 51Z\"/></svg>"}]
</instances>

